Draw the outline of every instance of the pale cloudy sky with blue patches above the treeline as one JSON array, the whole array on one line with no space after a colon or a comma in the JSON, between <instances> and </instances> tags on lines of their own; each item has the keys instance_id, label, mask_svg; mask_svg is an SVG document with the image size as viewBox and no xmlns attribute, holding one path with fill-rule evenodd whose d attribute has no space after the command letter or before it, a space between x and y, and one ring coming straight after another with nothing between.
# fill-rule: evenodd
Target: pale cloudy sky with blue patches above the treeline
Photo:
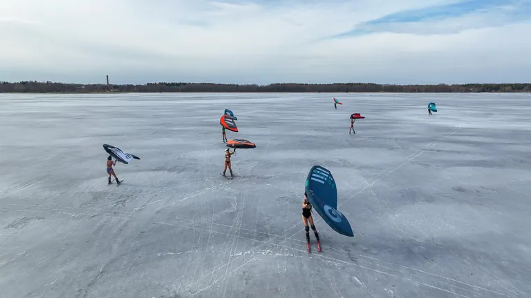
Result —
<instances>
[{"instance_id":1,"label":"pale cloudy sky with blue patches above the treeline","mask_svg":"<svg viewBox=\"0 0 531 298\"><path fill-rule=\"evenodd\" d=\"M531 0L1 0L0 81L528 83Z\"/></svg>"}]
</instances>

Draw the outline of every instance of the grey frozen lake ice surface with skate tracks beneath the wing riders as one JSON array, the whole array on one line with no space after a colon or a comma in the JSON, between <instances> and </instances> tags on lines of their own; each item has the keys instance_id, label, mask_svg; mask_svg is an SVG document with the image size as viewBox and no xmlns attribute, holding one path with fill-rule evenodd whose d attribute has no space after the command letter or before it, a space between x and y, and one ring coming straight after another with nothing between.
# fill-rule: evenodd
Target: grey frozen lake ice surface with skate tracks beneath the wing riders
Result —
<instances>
[{"instance_id":1,"label":"grey frozen lake ice surface with skate tracks beneath the wing riders","mask_svg":"<svg viewBox=\"0 0 531 298\"><path fill-rule=\"evenodd\" d=\"M233 180L225 108L227 137L257 144ZM526 94L0 95L0 297L531 297L530 112ZM141 158L118 187L103 143ZM316 164L355 236L314 215L308 254Z\"/></svg>"}]
</instances>

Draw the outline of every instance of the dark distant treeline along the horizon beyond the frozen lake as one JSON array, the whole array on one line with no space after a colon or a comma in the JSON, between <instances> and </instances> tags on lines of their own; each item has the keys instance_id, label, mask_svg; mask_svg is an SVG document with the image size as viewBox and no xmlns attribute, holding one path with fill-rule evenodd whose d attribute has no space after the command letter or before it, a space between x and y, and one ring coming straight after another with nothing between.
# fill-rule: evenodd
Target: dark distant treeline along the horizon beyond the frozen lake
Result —
<instances>
[{"instance_id":1,"label":"dark distant treeline along the horizon beyond the frozen lake","mask_svg":"<svg viewBox=\"0 0 531 298\"><path fill-rule=\"evenodd\" d=\"M145 85L74 84L21 81L1 82L0 93L95 92L531 92L528 83L469 83L458 85L381 85L375 83L274 83L237 85L218 83L147 83Z\"/></svg>"}]
</instances>

